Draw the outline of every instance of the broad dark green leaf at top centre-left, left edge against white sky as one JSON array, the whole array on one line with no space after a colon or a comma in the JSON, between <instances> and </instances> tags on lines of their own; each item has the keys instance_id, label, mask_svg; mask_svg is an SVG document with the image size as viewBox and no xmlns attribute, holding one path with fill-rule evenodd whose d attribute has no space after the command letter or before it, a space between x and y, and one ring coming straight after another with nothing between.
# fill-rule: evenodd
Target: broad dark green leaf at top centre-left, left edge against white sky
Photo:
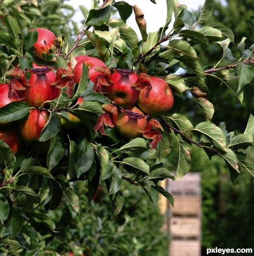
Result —
<instances>
[{"instance_id":1,"label":"broad dark green leaf at top centre-left, left edge against white sky","mask_svg":"<svg viewBox=\"0 0 254 256\"><path fill-rule=\"evenodd\" d=\"M100 26L103 23L108 22L108 20L110 19L110 14L111 13L109 6L99 10L91 9L86 19L86 25Z\"/></svg>"}]
</instances>

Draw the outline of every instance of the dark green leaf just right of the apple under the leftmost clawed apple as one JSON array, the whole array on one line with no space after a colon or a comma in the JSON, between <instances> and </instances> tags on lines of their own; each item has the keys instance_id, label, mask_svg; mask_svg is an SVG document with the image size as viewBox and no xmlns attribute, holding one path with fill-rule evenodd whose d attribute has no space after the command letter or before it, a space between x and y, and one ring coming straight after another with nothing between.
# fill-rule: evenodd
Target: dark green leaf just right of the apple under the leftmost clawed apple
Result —
<instances>
[{"instance_id":1,"label":"dark green leaf just right of the apple under the leftmost clawed apple","mask_svg":"<svg viewBox=\"0 0 254 256\"><path fill-rule=\"evenodd\" d=\"M47 141L50 138L54 137L61 128L61 119L58 115L53 113L49 120L47 121L47 124L41 131L41 135L39 138L39 141Z\"/></svg>"}]
</instances>

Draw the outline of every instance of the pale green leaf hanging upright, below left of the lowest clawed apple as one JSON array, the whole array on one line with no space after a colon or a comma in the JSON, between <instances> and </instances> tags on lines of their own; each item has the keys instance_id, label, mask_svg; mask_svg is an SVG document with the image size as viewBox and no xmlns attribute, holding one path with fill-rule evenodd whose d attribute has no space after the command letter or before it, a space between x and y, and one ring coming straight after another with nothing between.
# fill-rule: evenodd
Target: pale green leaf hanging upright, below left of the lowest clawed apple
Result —
<instances>
[{"instance_id":1,"label":"pale green leaf hanging upright, below left of the lowest clawed apple","mask_svg":"<svg viewBox=\"0 0 254 256\"><path fill-rule=\"evenodd\" d=\"M97 154L99 157L102 180L108 179L108 177L110 177L113 172L113 162L111 160L111 155L102 145L97 146Z\"/></svg>"}]
</instances>

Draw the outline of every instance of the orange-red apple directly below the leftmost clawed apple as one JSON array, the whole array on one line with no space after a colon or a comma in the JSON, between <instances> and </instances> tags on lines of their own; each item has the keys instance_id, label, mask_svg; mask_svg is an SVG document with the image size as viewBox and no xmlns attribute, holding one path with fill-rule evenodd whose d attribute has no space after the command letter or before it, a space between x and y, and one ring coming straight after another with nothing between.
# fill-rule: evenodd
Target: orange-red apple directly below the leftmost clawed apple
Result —
<instances>
[{"instance_id":1,"label":"orange-red apple directly below the leftmost clawed apple","mask_svg":"<svg viewBox=\"0 0 254 256\"><path fill-rule=\"evenodd\" d=\"M39 141L41 131L47 124L49 116L50 114L45 110L40 112L32 109L26 120L19 121L19 133L23 141L39 153L47 153L50 146L50 140Z\"/></svg>"}]
</instances>

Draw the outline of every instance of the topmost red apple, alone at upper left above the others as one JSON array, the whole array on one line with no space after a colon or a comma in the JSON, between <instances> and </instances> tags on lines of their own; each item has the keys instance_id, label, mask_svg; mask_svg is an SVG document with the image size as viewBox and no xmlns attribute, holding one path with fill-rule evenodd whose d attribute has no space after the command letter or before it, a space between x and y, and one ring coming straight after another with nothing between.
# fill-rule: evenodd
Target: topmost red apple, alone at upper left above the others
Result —
<instances>
[{"instance_id":1,"label":"topmost red apple, alone at upper left above the others","mask_svg":"<svg viewBox=\"0 0 254 256\"><path fill-rule=\"evenodd\" d=\"M35 29L38 31L38 38L37 42L33 45L34 51L41 58L45 58L50 54L51 45L54 45L55 34L47 28L33 28L30 31Z\"/></svg>"}]
</instances>

